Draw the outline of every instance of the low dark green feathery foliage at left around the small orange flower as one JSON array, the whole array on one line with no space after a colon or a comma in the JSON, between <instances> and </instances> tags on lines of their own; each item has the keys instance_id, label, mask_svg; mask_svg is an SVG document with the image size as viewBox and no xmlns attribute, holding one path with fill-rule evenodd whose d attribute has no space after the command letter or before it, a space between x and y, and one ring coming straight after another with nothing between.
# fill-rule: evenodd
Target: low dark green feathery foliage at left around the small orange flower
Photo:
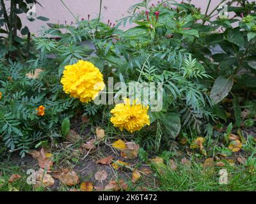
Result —
<instances>
[{"instance_id":1,"label":"low dark green feathery foliage at left around the small orange flower","mask_svg":"<svg viewBox=\"0 0 256 204\"><path fill-rule=\"evenodd\" d=\"M24 156L35 143L60 133L60 124L72 117L78 103L61 90L58 73L46 67L39 78L26 77L33 72L28 64L0 62L0 132L3 142L12 152ZM45 107L45 115L37 115L38 106Z\"/></svg>"}]
</instances>

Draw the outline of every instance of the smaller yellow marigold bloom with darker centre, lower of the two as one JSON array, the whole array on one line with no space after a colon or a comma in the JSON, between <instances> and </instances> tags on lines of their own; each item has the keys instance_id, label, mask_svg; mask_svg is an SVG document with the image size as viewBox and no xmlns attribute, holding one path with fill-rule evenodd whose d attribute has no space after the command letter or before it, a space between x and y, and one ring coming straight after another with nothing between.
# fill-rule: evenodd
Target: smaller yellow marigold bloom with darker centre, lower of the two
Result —
<instances>
[{"instance_id":1,"label":"smaller yellow marigold bloom with darker centre, lower of the two","mask_svg":"<svg viewBox=\"0 0 256 204\"><path fill-rule=\"evenodd\" d=\"M150 124L148 115L148 106L136 103L137 100L130 103L130 99L124 98L124 103L119 103L111 110L112 117L110 121L121 131L126 129L130 133L138 131L145 125Z\"/></svg>"}]
</instances>

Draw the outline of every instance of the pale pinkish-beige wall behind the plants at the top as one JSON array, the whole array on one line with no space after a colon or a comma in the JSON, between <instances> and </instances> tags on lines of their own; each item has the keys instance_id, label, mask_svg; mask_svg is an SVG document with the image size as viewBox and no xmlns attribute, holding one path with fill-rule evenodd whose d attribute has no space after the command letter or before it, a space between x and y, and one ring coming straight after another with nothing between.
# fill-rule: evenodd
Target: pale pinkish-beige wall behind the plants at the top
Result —
<instances>
[{"instance_id":1,"label":"pale pinkish-beige wall behind the plants at the top","mask_svg":"<svg viewBox=\"0 0 256 204\"><path fill-rule=\"evenodd\" d=\"M97 17L99 14L100 0L63 0L67 4L68 8L74 13L74 15L81 18L87 18L90 14L92 18ZM102 20L104 22L115 22L116 20L127 15L127 9L142 0L103 0L102 1ZM177 0L179 1L179 0ZM212 0L211 8L214 8L221 0ZM39 0L43 7L36 5L36 16L44 16L50 18L48 22L60 22L60 24L67 21L74 22L74 17L68 12L67 8L61 3L60 0ZM157 0L152 0L152 3L156 3ZM208 0L192 0L192 2L201 7L205 11ZM22 15L22 21L25 25L28 25L32 33L36 33L42 25L46 25L46 22L41 20L35 20L29 22L26 19L26 15Z\"/></svg>"}]
</instances>

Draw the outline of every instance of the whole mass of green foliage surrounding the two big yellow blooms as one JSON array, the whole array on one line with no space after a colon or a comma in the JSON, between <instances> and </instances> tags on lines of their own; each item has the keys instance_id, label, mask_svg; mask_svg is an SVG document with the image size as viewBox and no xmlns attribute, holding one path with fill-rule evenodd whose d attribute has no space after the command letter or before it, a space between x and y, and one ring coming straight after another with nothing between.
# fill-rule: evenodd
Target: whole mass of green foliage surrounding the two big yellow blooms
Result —
<instances>
[{"instance_id":1,"label":"whole mass of green foliage surrounding the two big yellow blooms","mask_svg":"<svg viewBox=\"0 0 256 204\"><path fill-rule=\"evenodd\" d=\"M81 105L62 91L63 69L79 59L93 62L104 74L106 84L108 77L126 84L163 84L163 108L160 112L150 110L153 128L134 137L145 149L168 147L181 129L188 135L200 135L206 129L205 133L212 135L209 122L216 116L229 120L220 102L230 93L236 126L242 126L243 99L237 91L255 91L255 5L232 2L237 6L227 3L228 14L235 12L236 17L216 20L211 17L218 6L202 14L190 2L150 6L150 1L144 0L132 6L129 16L116 25L99 19L77 20L71 25L47 24L49 28L43 27L40 36L33 36L35 52L26 64L0 64L0 124L6 147L20 150L24 156L45 135L52 137L60 131L67 135L68 119L74 110L97 125L109 120L112 107ZM119 28L128 22L135 26L127 31ZM221 51L214 53L214 47ZM26 77L36 68L44 69L39 78ZM155 98L154 94L149 97ZM36 114L35 108L40 105L45 106L44 117ZM150 100L148 105L153 106Z\"/></svg>"}]
</instances>

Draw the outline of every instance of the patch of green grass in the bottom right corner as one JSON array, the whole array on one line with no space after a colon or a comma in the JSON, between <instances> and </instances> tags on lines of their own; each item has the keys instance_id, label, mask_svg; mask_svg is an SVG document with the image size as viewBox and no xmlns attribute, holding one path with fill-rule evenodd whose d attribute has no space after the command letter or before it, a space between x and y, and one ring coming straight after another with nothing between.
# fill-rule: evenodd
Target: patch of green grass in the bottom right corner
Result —
<instances>
[{"instance_id":1,"label":"patch of green grass in the bottom right corner","mask_svg":"<svg viewBox=\"0 0 256 204\"><path fill-rule=\"evenodd\" d=\"M228 171L228 184L219 184L221 169ZM175 171L159 174L161 191L256 191L256 176L242 166L227 166L204 170L200 164L179 165Z\"/></svg>"}]
</instances>

